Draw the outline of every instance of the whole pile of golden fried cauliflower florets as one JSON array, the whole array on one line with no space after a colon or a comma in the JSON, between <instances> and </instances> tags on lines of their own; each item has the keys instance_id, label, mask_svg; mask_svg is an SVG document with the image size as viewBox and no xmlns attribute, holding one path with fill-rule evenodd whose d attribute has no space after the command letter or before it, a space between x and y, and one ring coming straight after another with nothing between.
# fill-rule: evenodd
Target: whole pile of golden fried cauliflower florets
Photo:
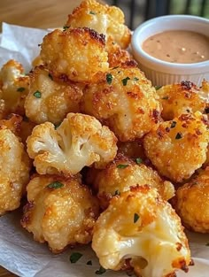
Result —
<instances>
[{"instance_id":1,"label":"whole pile of golden fried cauliflower florets","mask_svg":"<svg viewBox=\"0 0 209 277\"><path fill-rule=\"evenodd\" d=\"M92 242L105 269L173 277L192 264L182 225L209 233L209 83L156 89L130 38L119 8L86 0L30 73L2 67L0 215L22 201L52 252Z\"/></svg>"}]
</instances>

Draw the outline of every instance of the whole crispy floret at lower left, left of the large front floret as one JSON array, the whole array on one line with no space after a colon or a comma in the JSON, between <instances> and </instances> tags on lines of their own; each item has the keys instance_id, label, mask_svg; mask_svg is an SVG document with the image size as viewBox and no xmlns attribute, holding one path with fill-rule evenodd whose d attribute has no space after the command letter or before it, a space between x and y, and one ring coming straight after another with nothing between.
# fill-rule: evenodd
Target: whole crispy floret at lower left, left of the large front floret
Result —
<instances>
[{"instance_id":1,"label":"whole crispy floret at lower left, left of the large front floret","mask_svg":"<svg viewBox=\"0 0 209 277\"><path fill-rule=\"evenodd\" d=\"M79 178L35 176L27 185L22 227L54 253L67 245L87 244L98 216L97 198Z\"/></svg>"}]
</instances>

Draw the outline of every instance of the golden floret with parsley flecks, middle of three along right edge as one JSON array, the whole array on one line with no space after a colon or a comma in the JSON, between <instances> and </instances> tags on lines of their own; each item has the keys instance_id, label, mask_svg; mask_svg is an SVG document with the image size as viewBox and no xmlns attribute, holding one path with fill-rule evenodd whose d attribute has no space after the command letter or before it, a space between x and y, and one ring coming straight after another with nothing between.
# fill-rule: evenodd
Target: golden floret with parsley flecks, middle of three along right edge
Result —
<instances>
[{"instance_id":1,"label":"golden floret with parsley flecks, middle of three along right edge","mask_svg":"<svg viewBox=\"0 0 209 277\"><path fill-rule=\"evenodd\" d=\"M182 114L145 135L143 147L159 173L182 182L204 164L209 142L208 122L200 113Z\"/></svg>"}]
</instances>

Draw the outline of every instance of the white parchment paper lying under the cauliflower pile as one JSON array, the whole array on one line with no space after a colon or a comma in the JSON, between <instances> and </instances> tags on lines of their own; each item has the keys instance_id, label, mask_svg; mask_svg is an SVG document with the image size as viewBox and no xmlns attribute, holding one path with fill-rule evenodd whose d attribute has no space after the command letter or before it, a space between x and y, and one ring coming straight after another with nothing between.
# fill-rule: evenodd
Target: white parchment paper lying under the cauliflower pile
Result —
<instances>
[{"instance_id":1,"label":"white parchment paper lying under the cauliflower pile","mask_svg":"<svg viewBox=\"0 0 209 277\"><path fill-rule=\"evenodd\" d=\"M17 27L3 24L0 37L0 66L10 59L17 59L26 72L31 61L38 55L38 44L48 30ZM32 235L20 227L21 211L11 212L0 218L0 265L23 277L92 277L99 268L98 260L89 246L66 250L53 255L45 244L33 241ZM188 234L195 265L189 273L177 273L178 277L209 277L209 234ZM72 252L83 254L76 264L71 264ZM92 265L86 265L91 260ZM126 273L107 271L106 277L126 276Z\"/></svg>"}]
</instances>

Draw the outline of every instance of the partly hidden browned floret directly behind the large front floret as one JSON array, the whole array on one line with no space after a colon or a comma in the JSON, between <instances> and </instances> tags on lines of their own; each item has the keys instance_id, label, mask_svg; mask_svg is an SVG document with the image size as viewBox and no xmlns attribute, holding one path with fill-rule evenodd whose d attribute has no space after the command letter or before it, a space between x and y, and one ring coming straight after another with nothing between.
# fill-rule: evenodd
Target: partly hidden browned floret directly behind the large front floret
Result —
<instances>
[{"instance_id":1,"label":"partly hidden browned floret directly behind the large front floret","mask_svg":"<svg viewBox=\"0 0 209 277\"><path fill-rule=\"evenodd\" d=\"M174 186L170 181L164 181L151 167L142 164L142 159L133 161L118 155L105 169L95 171L89 169L91 185L97 189L97 197L102 209L108 207L112 196L129 190L136 185L149 184L158 189L159 195L168 200L174 196Z\"/></svg>"}]
</instances>

